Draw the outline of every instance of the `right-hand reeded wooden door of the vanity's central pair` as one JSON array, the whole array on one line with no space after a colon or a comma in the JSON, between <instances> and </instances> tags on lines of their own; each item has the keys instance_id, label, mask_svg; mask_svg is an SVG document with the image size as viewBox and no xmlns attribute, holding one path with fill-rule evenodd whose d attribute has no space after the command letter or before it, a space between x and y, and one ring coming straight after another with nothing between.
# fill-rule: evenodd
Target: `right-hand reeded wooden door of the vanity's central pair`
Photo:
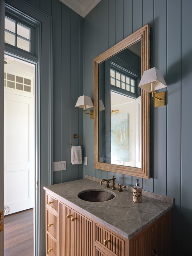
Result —
<instances>
[{"instance_id":1,"label":"right-hand reeded wooden door of the vanity's central pair","mask_svg":"<svg viewBox=\"0 0 192 256\"><path fill-rule=\"evenodd\" d=\"M74 255L92 256L92 221L74 211Z\"/></svg>"}]
</instances>

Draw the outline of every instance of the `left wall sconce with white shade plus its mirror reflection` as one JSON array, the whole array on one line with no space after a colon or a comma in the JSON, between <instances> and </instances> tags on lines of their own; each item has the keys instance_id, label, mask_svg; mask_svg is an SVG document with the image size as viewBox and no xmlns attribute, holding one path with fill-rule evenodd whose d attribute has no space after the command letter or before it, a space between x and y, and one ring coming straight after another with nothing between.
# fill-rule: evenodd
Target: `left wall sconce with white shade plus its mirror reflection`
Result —
<instances>
[{"instance_id":1,"label":"left wall sconce with white shade plus its mirror reflection","mask_svg":"<svg viewBox=\"0 0 192 256\"><path fill-rule=\"evenodd\" d=\"M86 108L93 108L94 107L91 98L88 97L88 96L85 96L85 95L80 96L78 98L77 103L76 103L75 106L78 107L78 108L83 108L84 113L87 111ZM99 109L100 111L105 109L102 100L100 100L100 105L99 106L100 106L100 109ZM90 119L94 118L93 109L90 110L90 113L85 113L85 114L90 115Z\"/></svg>"}]
</instances>

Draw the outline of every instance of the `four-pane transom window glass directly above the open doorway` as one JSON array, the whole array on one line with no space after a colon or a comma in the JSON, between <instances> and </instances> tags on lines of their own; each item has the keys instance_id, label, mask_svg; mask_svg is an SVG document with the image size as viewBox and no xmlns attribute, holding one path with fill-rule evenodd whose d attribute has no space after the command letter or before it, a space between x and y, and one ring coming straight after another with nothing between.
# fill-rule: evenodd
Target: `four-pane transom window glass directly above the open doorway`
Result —
<instances>
[{"instance_id":1,"label":"four-pane transom window glass directly above the open doorway","mask_svg":"<svg viewBox=\"0 0 192 256\"><path fill-rule=\"evenodd\" d=\"M31 29L5 16L5 43L31 52Z\"/></svg>"}]
</instances>

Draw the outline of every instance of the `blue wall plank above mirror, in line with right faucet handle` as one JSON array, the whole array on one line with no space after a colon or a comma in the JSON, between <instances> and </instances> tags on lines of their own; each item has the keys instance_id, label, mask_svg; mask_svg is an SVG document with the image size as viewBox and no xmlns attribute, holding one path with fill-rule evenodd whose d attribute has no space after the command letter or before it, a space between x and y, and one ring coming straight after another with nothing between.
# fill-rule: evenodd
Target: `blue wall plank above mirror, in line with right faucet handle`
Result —
<instances>
[{"instance_id":1,"label":"blue wall plank above mirror, in line with right faucet handle","mask_svg":"<svg viewBox=\"0 0 192 256\"><path fill-rule=\"evenodd\" d=\"M124 0L116 0L116 44L124 38Z\"/></svg>"}]
</instances>

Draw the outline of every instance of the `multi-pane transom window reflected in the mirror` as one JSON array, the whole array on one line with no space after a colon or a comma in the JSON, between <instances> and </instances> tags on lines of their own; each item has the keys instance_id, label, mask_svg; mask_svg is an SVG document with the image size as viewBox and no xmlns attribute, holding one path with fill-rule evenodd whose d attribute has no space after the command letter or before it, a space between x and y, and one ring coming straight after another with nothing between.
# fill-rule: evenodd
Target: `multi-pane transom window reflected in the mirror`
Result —
<instances>
[{"instance_id":1,"label":"multi-pane transom window reflected in the mirror","mask_svg":"<svg viewBox=\"0 0 192 256\"><path fill-rule=\"evenodd\" d=\"M127 75L124 75L113 68L110 68L111 85L119 87L125 91L135 93L135 80Z\"/></svg>"}]
</instances>

